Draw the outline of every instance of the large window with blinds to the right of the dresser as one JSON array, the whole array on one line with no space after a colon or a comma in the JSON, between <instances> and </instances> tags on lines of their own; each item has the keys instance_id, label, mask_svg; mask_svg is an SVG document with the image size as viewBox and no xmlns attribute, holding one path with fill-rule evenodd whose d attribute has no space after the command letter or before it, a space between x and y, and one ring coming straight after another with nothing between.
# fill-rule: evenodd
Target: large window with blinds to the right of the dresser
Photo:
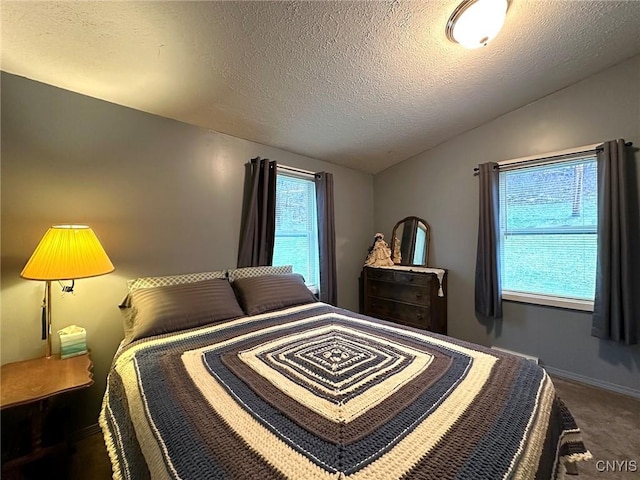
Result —
<instances>
[{"instance_id":1,"label":"large window with blinds to the right of the dresser","mask_svg":"<svg viewBox=\"0 0 640 480\"><path fill-rule=\"evenodd\" d=\"M499 175L503 298L592 308L598 225L595 157L505 169Z\"/></svg>"}]
</instances>

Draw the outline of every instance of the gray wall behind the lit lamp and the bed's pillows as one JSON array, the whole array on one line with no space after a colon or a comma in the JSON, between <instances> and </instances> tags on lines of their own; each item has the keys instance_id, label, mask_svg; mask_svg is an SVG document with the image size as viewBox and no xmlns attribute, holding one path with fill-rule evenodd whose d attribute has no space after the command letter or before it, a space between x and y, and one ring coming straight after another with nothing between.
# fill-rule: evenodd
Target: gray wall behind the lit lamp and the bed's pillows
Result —
<instances>
[{"instance_id":1,"label":"gray wall behind the lit lamp and the bed's pillows","mask_svg":"<svg viewBox=\"0 0 640 480\"><path fill-rule=\"evenodd\" d=\"M44 355L43 282L19 277L53 224L90 225L116 267L55 288L53 328L87 330L95 385L81 424L96 422L123 332L125 280L235 267L244 164L261 156L334 174L338 301L358 308L357 278L373 232L373 177L2 74L2 363ZM54 351L58 350L57 334Z\"/></svg>"}]
</instances>

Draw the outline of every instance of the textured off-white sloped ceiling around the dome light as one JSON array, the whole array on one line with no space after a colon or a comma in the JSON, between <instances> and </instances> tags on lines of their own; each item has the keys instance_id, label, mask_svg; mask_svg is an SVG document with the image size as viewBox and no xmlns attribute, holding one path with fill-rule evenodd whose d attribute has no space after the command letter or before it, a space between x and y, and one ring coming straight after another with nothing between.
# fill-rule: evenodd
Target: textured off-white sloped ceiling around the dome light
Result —
<instances>
[{"instance_id":1,"label":"textured off-white sloped ceiling around the dome light","mask_svg":"<svg viewBox=\"0 0 640 480\"><path fill-rule=\"evenodd\" d=\"M376 173L640 53L640 1L2 1L2 70Z\"/></svg>"}]
</instances>

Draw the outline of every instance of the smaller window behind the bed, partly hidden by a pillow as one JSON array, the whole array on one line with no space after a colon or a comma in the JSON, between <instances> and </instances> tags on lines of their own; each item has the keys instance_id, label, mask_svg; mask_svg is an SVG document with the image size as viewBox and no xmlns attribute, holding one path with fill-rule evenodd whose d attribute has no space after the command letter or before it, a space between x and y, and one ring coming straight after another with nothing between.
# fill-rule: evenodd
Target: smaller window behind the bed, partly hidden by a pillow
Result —
<instances>
[{"instance_id":1,"label":"smaller window behind the bed, partly hidden by a pillow","mask_svg":"<svg viewBox=\"0 0 640 480\"><path fill-rule=\"evenodd\" d=\"M293 265L315 292L320 286L316 187L313 179L278 172L273 265Z\"/></svg>"}]
</instances>

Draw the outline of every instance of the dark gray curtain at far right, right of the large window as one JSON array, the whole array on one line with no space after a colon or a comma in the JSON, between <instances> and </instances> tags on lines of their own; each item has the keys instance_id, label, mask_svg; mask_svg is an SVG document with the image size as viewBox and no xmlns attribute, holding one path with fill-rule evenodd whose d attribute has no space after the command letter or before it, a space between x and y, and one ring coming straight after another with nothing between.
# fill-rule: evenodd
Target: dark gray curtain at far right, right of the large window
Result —
<instances>
[{"instance_id":1,"label":"dark gray curtain at far right, right of the large window","mask_svg":"<svg viewBox=\"0 0 640 480\"><path fill-rule=\"evenodd\" d=\"M624 140L598 151L598 260L591 334L632 345L638 342L640 285L637 272L638 206L635 178Z\"/></svg>"}]
</instances>

